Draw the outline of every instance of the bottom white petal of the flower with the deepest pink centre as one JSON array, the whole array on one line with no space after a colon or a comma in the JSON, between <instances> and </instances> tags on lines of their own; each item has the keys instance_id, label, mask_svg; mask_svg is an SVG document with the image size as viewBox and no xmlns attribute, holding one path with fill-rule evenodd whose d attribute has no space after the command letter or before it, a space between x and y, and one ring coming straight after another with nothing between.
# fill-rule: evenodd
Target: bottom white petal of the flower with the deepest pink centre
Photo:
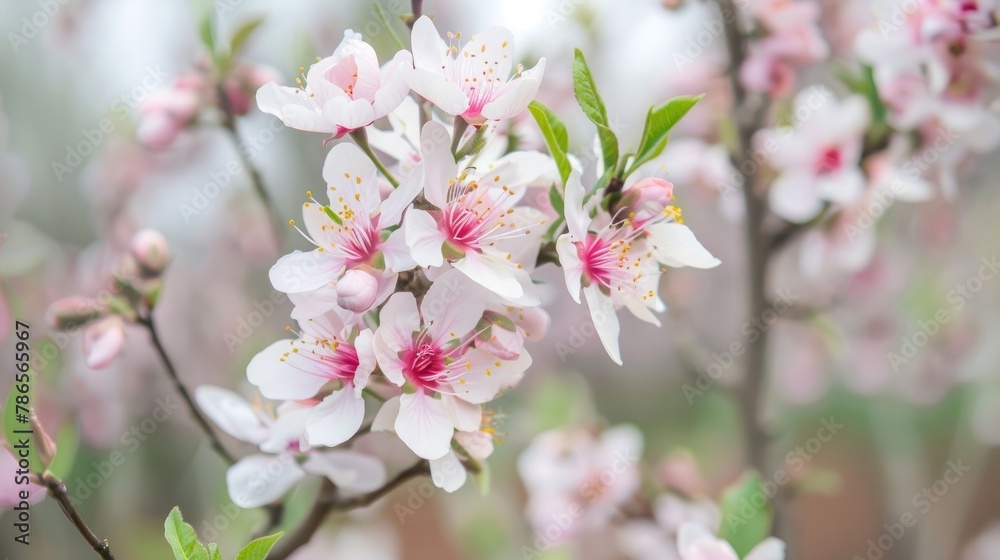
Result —
<instances>
[{"instance_id":1,"label":"bottom white petal of the flower with the deepest pink centre","mask_svg":"<svg viewBox=\"0 0 1000 560\"><path fill-rule=\"evenodd\" d=\"M418 457L441 458L451 449L454 432L441 401L423 393L399 397L396 434Z\"/></svg>"}]
</instances>

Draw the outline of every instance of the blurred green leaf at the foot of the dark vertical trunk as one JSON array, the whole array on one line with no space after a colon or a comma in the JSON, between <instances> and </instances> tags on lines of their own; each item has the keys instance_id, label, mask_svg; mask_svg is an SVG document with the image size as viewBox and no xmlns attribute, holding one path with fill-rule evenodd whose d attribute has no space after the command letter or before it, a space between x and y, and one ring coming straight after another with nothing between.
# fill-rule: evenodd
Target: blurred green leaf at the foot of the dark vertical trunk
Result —
<instances>
[{"instance_id":1,"label":"blurred green leaf at the foot of the dark vertical trunk","mask_svg":"<svg viewBox=\"0 0 1000 560\"><path fill-rule=\"evenodd\" d=\"M771 534L773 511L760 477L748 473L722 496L722 523L719 537L743 558Z\"/></svg>"}]
</instances>

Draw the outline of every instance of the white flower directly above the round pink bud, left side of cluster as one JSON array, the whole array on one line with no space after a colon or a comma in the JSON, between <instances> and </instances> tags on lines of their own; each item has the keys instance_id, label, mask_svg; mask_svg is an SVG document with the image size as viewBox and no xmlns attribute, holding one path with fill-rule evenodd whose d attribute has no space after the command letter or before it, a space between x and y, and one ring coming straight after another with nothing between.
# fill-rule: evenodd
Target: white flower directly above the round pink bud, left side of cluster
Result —
<instances>
[{"instance_id":1,"label":"white flower directly above the round pink bud, left side of cluster","mask_svg":"<svg viewBox=\"0 0 1000 560\"><path fill-rule=\"evenodd\" d=\"M399 224L403 210L420 192L421 173L383 200L375 165L360 148L344 143L330 150L323 178L329 203L312 198L302 208L303 236L316 249L285 255L270 271L275 289L309 294L295 298L303 308L297 309L297 317L323 314L338 302L355 313L367 311L392 292L397 272L414 266L402 232L390 234L389 228ZM346 277L351 270L370 278ZM343 293L338 292L341 279L347 280Z\"/></svg>"}]
</instances>

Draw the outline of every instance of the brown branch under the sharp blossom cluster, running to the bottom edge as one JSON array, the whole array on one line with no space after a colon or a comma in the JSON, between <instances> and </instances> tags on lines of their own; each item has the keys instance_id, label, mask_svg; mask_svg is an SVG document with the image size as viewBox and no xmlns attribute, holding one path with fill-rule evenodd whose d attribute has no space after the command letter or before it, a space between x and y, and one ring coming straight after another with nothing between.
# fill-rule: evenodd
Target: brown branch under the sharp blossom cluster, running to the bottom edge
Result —
<instances>
[{"instance_id":1,"label":"brown branch under the sharp blossom cluster, running to the bottom edge","mask_svg":"<svg viewBox=\"0 0 1000 560\"><path fill-rule=\"evenodd\" d=\"M268 560L285 560L296 550L309 542L312 536L323 525L326 516L333 511L349 511L365 506L369 506L386 494L399 488L411 478L430 474L430 465L427 461L419 461L412 467L400 471L391 480L382 485L381 488L354 496L351 498L338 499L337 487L327 479L323 479L323 486L320 487L319 496L313 503L312 509L306 514L306 518L290 535L279 541L279 546L267 556Z\"/></svg>"}]
</instances>

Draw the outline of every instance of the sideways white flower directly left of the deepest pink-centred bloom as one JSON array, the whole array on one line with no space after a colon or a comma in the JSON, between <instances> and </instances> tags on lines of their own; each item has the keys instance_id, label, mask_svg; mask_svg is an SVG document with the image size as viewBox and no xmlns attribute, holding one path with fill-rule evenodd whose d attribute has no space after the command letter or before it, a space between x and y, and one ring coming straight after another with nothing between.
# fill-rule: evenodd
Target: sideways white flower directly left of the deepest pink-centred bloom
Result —
<instances>
[{"instance_id":1,"label":"sideways white flower directly left of the deepest pink-centred bloom","mask_svg":"<svg viewBox=\"0 0 1000 560\"><path fill-rule=\"evenodd\" d=\"M300 327L298 338L279 340L254 356L247 378L269 399L310 400L306 442L339 445L365 418L362 390L375 370L372 331L334 313L300 321ZM323 394L329 388L334 390Z\"/></svg>"}]
</instances>

